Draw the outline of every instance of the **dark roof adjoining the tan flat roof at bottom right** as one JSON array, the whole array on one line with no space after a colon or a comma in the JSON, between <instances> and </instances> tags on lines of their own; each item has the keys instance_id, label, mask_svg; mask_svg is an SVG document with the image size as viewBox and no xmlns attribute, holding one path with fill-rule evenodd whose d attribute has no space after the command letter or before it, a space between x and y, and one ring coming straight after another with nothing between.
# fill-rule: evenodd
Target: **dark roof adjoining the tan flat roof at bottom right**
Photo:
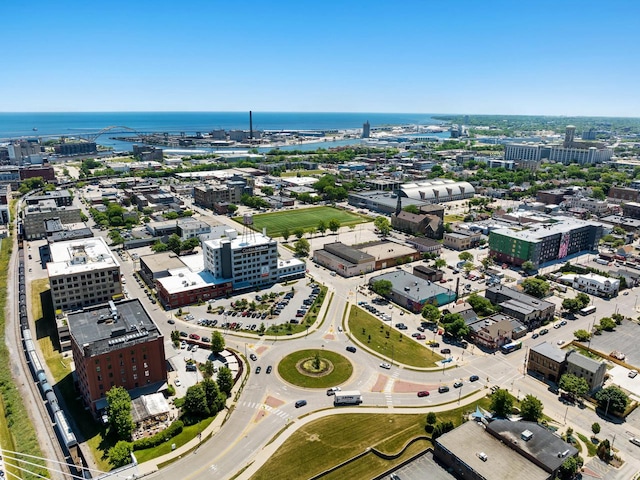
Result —
<instances>
[{"instance_id":1,"label":"dark roof adjoining the tan flat roof at bottom right","mask_svg":"<svg viewBox=\"0 0 640 480\"><path fill-rule=\"evenodd\" d=\"M533 434L526 441L521 437L525 430ZM548 472L556 471L567 458L578 453L575 447L535 422L494 420L487 426L487 432L518 453L537 460L536 463Z\"/></svg>"}]
</instances>

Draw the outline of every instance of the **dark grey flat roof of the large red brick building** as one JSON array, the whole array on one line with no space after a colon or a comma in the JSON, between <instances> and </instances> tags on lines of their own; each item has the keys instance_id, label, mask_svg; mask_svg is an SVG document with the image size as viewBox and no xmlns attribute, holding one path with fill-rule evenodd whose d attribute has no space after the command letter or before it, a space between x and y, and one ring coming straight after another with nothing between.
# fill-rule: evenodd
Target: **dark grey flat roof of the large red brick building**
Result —
<instances>
[{"instance_id":1,"label":"dark grey flat roof of the large red brick building","mask_svg":"<svg viewBox=\"0 0 640 480\"><path fill-rule=\"evenodd\" d=\"M100 355L162 336L140 300L127 300L115 307L115 318L109 304L67 316L71 336L80 348L84 348L85 356Z\"/></svg>"}]
</instances>

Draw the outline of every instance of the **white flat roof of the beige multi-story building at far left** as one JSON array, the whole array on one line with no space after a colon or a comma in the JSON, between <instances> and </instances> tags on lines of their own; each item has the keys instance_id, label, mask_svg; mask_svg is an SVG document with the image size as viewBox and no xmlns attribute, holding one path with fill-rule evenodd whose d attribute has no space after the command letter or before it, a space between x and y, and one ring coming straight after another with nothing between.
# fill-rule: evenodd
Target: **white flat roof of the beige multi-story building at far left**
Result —
<instances>
[{"instance_id":1,"label":"white flat roof of the beige multi-story building at far left","mask_svg":"<svg viewBox=\"0 0 640 480\"><path fill-rule=\"evenodd\" d=\"M49 246L51 262L47 263L49 277L73 275L104 268L120 268L115 255L104 238L53 243Z\"/></svg>"}]
</instances>

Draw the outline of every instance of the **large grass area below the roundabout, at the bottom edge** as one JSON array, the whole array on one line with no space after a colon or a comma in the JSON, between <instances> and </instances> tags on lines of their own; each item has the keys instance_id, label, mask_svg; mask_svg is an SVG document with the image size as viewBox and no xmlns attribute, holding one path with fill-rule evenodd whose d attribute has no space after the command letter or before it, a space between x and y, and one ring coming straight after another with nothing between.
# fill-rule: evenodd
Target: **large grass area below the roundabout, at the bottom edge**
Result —
<instances>
[{"instance_id":1,"label":"large grass area below the roundabout, at the bottom edge","mask_svg":"<svg viewBox=\"0 0 640 480\"><path fill-rule=\"evenodd\" d=\"M477 405L488 408L489 402L483 398ZM471 413L475 408L473 404L440 412L437 418L439 422L452 421L458 426L464 412ZM322 418L293 433L251 480L310 478L369 447L396 454L409 440L426 434L425 424L425 414L348 414ZM374 478L428 446L428 441L418 442L390 461L369 454L326 478Z\"/></svg>"}]
</instances>

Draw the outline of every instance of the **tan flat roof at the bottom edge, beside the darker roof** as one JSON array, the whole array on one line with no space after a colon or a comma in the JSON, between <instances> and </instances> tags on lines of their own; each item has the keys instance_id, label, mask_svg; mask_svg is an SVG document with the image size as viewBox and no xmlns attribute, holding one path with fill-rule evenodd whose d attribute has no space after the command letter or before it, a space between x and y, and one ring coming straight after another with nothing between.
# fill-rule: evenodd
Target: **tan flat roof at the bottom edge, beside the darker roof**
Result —
<instances>
[{"instance_id":1,"label":"tan flat roof at the bottom edge, beside the darker roof","mask_svg":"<svg viewBox=\"0 0 640 480\"><path fill-rule=\"evenodd\" d=\"M471 470L491 480L547 480L549 474L487 433L481 423L469 421L436 440ZM478 456L487 456L483 461Z\"/></svg>"}]
</instances>

